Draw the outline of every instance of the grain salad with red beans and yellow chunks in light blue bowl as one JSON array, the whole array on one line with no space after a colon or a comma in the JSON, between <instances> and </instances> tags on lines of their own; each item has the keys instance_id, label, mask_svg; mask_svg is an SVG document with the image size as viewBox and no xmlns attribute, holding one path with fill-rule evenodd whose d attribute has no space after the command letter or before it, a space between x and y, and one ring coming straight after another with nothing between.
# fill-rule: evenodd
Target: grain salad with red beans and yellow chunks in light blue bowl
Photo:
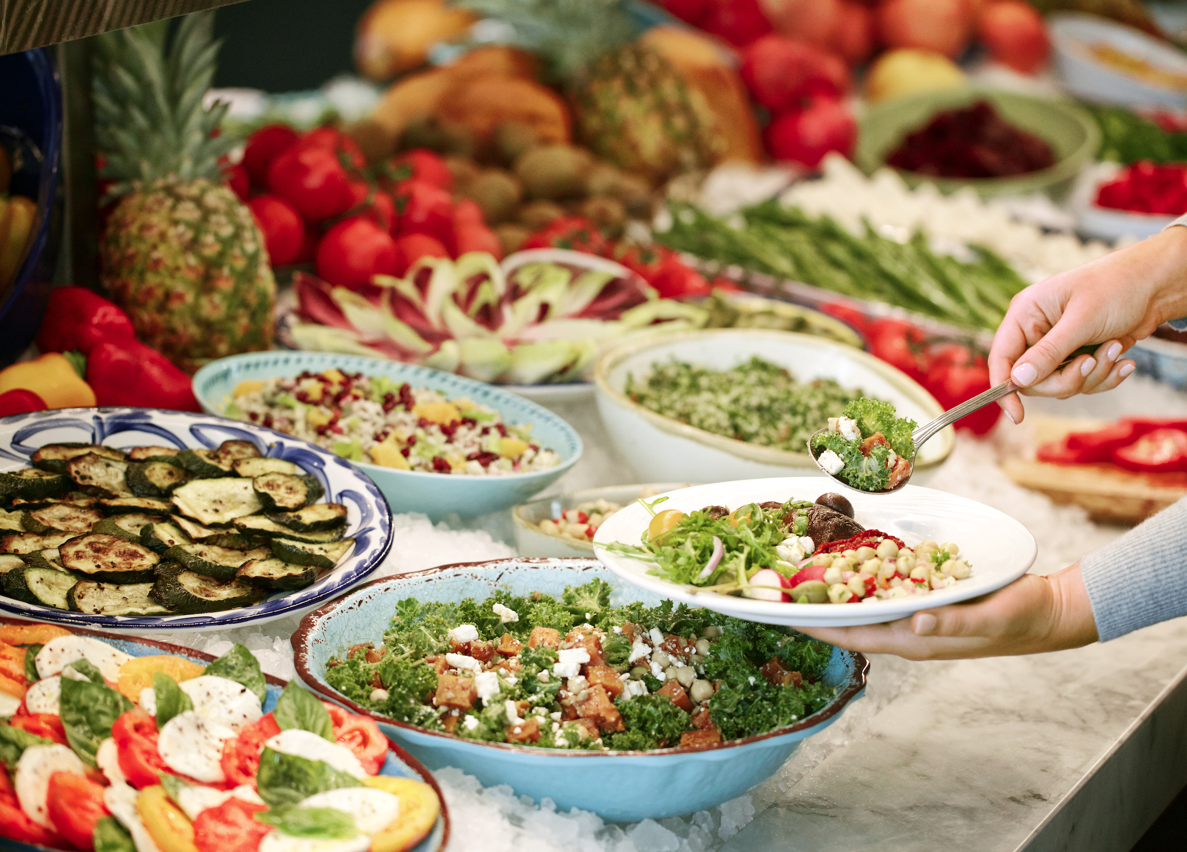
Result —
<instances>
[{"instance_id":1,"label":"grain salad with red beans and yellow chunks in light blue bowl","mask_svg":"<svg viewBox=\"0 0 1187 852\"><path fill-rule=\"evenodd\" d=\"M488 406L446 399L387 376L330 369L246 380L224 412L325 447L351 462L429 473L506 476L556 468L560 456Z\"/></svg>"}]
</instances>

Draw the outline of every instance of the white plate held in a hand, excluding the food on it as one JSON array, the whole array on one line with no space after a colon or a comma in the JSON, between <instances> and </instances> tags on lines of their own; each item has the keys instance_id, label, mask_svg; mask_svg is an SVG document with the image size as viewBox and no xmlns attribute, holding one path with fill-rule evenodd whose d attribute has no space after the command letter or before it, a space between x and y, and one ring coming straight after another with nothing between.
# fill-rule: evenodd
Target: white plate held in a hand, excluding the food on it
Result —
<instances>
[{"instance_id":1,"label":"white plate held in a hand, excluding the food on it","mask_svg":"<svg viewBox=\"0 0 1187 852\"><path fill-rule=\"evenodd\" d=\"M692 511L705 506L736 509L747 503L783 502L792 497L814 501L826 488L817 477L723 482L671 491L668 500L656 509ZM846 490L845 496L853 503L857 522L867 529L889 533L907 545L927 540L956 542L960 546L960 555L972 566L972 576L942 591L868 604L783 604L716 592L690 592L692 586L647 573L648 562L605 549L612 541L640 543L650 515L637 502L616 511L598 527L594 553L610 571L640 589L736 618L792 627L853 627L904 618L918 610L988 595L1022 577L1034 564L1037 551L1027 528L1009 515L972 500L919 485L907 485L888 496L851 490Z\"/></svg>"}]
</instances>

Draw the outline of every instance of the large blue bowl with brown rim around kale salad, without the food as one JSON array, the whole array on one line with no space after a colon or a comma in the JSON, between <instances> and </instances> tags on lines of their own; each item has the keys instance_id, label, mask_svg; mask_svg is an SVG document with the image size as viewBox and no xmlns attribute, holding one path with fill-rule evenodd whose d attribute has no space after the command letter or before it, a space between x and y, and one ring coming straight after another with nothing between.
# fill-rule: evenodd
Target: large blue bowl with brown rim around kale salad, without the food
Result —
<instances>
[{"instance_id":1,"label":"large blue bowl with brown rim around kale salad, without the food","mask_svg":"<svg viewBox=\"0 0 1187 852\"><path fill-rule=\"evenodd\" d=\"M348 646L381 638L395 604L483 599L496 589L515 595L540 591L559 597L565 586L595 577L614 589L611 603L661 598L626 585L596 559L512 559L449 565L356 589L310 612L292 637L298 675L324 698L368 713L325 682L325 663ZM520 795L552 799L560 810L594 810L614 822L664 819L704 810L735 799L775 774L800 740L824 730L865 691L869 663L861 654L833 650L824 682L840 687L823 710L789 727L718 745L658 751L598 754L481 743L426 731L369 713L380 729L432 769L457 767L483 784L510 784Z\"/></svg>"}]
</instances>

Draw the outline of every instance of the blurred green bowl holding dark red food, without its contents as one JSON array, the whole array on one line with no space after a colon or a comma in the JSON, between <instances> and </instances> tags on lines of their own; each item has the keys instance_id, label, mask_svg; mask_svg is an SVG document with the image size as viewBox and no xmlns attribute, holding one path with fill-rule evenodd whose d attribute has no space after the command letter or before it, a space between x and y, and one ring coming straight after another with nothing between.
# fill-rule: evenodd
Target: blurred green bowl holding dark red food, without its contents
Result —
<instances>
[{"instance_id":1,"label":"blurred green bowl holding dark red food, without its contents","mask_svg":"<svg viewBox=\"0 0 1187 852\"><path fill-rule=\"evenodd\" d=\"M925 91L870 107L861 119L853 160L862 171L872 174L886 166L887 158L908 133L927 126L937 113L980 100L989 101L1009 123L1050 145L1055 165L1011 178L935 178L895 170L907 185L931 183L941 192L971 186L983 198L1026 192L1058 195L1071 187L1100 147L1097 122L1072 101L970 88Z\"/></svg>"}]
</instances>

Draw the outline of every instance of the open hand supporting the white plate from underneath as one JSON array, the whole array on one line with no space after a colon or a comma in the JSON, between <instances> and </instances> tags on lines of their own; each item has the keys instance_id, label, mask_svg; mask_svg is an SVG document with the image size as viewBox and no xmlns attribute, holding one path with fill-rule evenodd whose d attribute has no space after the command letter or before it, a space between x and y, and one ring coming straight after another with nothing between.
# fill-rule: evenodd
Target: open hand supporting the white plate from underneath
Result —
<instances>
[{"instance_id":1,"label":"open hand supporting the white plate from underneath","mask_svg":"<svg viewBox=\"0 0 1187 852\"><path fill-rule=\"evenodd\" d=\"M1048 577L1024 574L972 603L925 610L888 624L796 629L850 650L908 660L1039 654L1097 641L1079 562Z\"/></svg>"}]
</instances>

